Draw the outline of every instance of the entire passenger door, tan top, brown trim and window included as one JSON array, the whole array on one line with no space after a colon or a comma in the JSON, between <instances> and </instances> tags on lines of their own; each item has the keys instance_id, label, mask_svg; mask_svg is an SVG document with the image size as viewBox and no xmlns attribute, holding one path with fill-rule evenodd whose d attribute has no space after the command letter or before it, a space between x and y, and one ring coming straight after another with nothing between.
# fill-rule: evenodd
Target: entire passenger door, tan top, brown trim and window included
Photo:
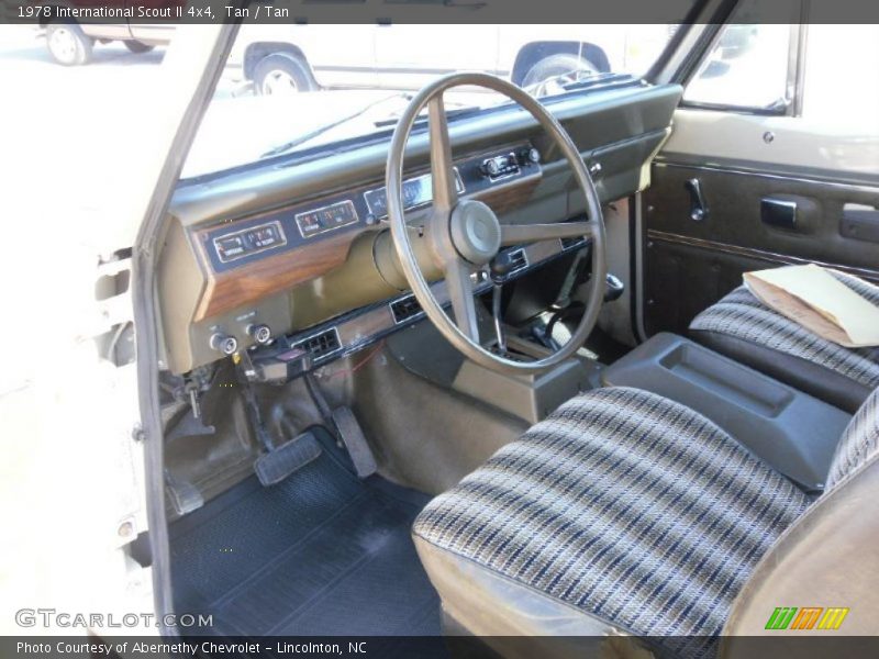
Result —
<instances>
[{"instance_id":1,"label":"entire passenger door, tan top, brown trim and window included","mask_svg":"<svg viewBox=\"0 0 879 659\"><path fill-rule=\"evenodd\" d=\"M879 282L879 93L863 74L879 62L879 29L723 30L641 200L648 336L686 333L752 269L817 263ZM746 37L739 53L726 53L728 34Z\"/></svg>"}]
</instances>

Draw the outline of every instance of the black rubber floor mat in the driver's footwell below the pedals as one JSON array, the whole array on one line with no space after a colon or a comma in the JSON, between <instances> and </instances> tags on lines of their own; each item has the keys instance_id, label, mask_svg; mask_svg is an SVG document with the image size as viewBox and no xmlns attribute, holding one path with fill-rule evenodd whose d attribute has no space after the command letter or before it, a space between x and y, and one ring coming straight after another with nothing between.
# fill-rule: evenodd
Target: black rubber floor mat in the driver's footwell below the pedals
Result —
<instances>
[{"instance_id":1,"label":"black rubber floor mat in the driver's footwell below the pedals","mask_svg":"<svg viewBox=\"0 0 879 659\"><path fill-rule=\"evenodd\" d=\"M358 480L324 450L277 485L255 477L176 522L178 612L230 636L438 635L439 600L410 537L424 494Z\"/></svg>"}]
</instances>

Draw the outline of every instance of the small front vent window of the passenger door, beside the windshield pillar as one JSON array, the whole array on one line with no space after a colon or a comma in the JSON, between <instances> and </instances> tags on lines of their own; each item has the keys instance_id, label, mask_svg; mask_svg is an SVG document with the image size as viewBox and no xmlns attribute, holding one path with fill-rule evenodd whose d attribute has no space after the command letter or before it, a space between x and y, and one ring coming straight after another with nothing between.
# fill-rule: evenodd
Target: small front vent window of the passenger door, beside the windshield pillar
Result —
<instances>
[{"instance_id":1,"label":"small front vent window of the passenger door, beside the windshield pillar","mask_svg":"<svg viewBox=\"0 0 879 659\"><path fill-rule=\"evenodd\" d=\"M786 24L730 24L683 93L685 105L787 114L795 65Z\"/></svg>"}]
</instances>

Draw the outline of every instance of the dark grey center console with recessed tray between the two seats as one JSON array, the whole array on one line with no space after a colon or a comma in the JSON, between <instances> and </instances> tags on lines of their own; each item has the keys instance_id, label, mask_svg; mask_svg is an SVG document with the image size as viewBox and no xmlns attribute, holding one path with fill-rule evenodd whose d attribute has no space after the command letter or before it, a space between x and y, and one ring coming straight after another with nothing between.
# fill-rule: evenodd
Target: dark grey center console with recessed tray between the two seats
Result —
<instances>
[{"instance_id":1,"label":"dark grey center console with recessed tray between the two seats","mask_svg":"<svg viewBox=\"0 0 879 659\"><path fill-rule=\"evenodd\" d=\"M850 416L681 336L657 334L602 371L706 416L808 492L820 492Z\"/></svg>"}]
</instances>

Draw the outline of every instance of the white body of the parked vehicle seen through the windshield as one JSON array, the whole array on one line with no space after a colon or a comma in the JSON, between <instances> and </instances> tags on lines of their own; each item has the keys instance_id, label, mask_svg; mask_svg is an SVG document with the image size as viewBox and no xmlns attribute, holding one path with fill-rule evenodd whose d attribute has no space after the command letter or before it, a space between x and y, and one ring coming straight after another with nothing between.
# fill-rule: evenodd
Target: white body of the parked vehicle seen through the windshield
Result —
<instances>
[{"instance_id":1,"label":"white body of the parked vehicle seen through the windshield","mask_svg":"<svg viewBox=\"0 0 879 659\"><path fill-rule=\"evenodd\" d=\"M518 85L533 82L535 67L554 58L589 71L637 71L665 45L663 25L244 25L230 65L264 89L260 63L282 55L304 68L307 89L380 87L419 89L438 75L482 70ZM466 48L426 48L454 40ZM276 59L276 62L281 62ZM559 68L560 67L560 68ZM528 78L532 74L532 79ZM546 71L544 71L546 74ZM557 74L555 74L557 75Z\"/></svg>"}]
</instances>

